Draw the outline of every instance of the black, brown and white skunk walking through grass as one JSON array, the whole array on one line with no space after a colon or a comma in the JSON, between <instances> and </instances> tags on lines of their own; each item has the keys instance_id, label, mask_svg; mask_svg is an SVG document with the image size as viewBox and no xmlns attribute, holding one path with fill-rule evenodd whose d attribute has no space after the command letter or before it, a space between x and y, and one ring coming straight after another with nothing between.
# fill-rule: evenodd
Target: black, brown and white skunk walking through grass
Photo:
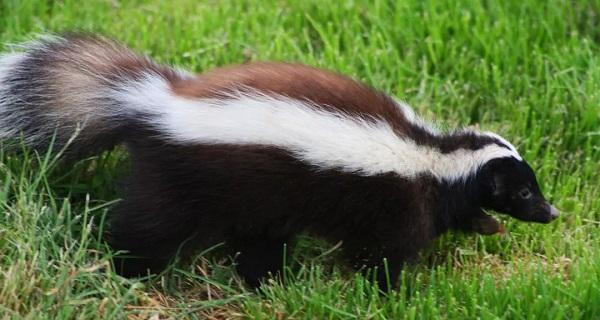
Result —
<instances>
[{"instance_id":1,"label":"black, brown and white skunk walking through grass","mask_svg":"<svg viewBox=\"0 0 600 320\"><path fill-rule=\"evenodd\" d=\"M0 58L0 138L74 154L124 143L133 169L110 239L159 271L179 249L224 242L257 285L301 231L343 242L360 268L403 263L449 229L558 216L515 147L442 133L405 104L342 75L250 63L192 75L111 40L46 38Z\"/></svg>"}]
</instances>

